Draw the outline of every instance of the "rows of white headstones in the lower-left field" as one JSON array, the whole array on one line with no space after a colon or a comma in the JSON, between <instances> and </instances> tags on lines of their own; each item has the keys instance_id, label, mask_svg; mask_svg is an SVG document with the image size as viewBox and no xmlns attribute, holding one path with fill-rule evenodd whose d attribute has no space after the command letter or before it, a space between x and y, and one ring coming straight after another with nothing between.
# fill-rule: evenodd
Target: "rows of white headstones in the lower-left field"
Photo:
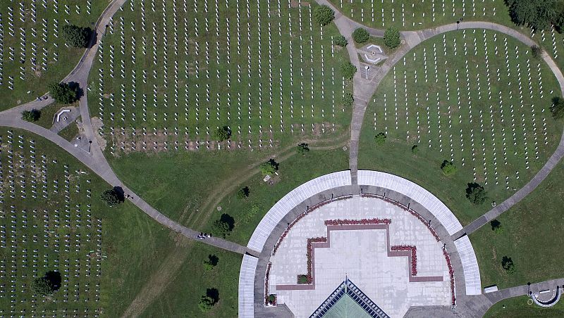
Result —
<instances>
[{"instance_id":1,"label":"rows of white headstones in the lower-left field","mask_svg":"<svg viewBox=\"0 0 564 318\"><path fill-rule=\"evenodd\" d=\"M0 136L0 149L0 180L4 177L8 180L7 184L0 184L0 248L6 249L6 258L0 260L0 281L6 283L0 284L0 301L5 298L10 303L9 308L0 308L0 314L45 313L37 307L38 303L47 302L75 303L82 307L90 301L90 296L94 297L92 301L98 302L99 276L102 274L102 220L92 216L90 203L84 210L82 203L71 199L71 192L86 193L90 198L90 189L84 191L80 184L71 186L70 182L80 179L80 174L85 172L75 170L75 176L71 177L69 166L63 165L61 191L59 180L49 179L48 165L51 163L46 155L36 153L34 140L8 130L5 136ZM51 161L52 165L59 165L57 160ZM86 182L90 183L90 180ZM8 193L5 194L4 189ZM54 210L30 211L16 207L21 201L56 201L61 194L64 201ZM73 230L59 234L59 227ZM27 281L28 275L42 276L51 270L59 272L62 279L54 298L33 294L30 286L23 282ZM85 284L80 284L78 279ZM30 313L20 309L20 304L27 302L31 303ZM88 312L87 308L86 311L69 310L66 306L57 308L56 312Z\"/></svg>"}]
</instances>

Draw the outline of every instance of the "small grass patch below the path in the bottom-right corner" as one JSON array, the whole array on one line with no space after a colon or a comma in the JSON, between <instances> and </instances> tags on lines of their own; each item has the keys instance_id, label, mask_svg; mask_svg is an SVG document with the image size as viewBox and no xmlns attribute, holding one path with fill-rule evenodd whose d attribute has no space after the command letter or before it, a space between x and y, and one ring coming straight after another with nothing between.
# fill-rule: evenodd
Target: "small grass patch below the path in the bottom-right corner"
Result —
<instances>
[{"instance_id":1,"label":"small grass patch below the path in the bottom-right corner","mask_svg":"<svg viewBox=\"0 0 564 318\"><path fill-rule=\"evenodd\" d=\"M528 318L544 317L556 318L564 316L564 303L558 302L553 307L543 308L537 305L529 305L527 296L520 296L502 300L491 306L484 314L484 318ZM505 308L503 308L505 306Z\"/></svg>"}]
</instances>

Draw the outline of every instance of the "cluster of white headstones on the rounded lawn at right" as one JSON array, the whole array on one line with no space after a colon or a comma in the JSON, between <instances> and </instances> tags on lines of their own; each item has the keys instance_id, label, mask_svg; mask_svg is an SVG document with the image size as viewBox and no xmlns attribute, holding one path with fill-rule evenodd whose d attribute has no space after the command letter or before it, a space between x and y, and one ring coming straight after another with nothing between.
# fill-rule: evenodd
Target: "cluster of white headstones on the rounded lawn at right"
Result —
<instances>
[{"instance_id":1,"label":"cluster of white headstones on the rounded lawn at right","mask_svg":"<svg viewBox=\"0 0 564 318\"><path fill-rule=\"evenodd\" d=\"M515 48L510 48L507 42L507 38L503 37L503 46L501 49L498 48L500 44L498 42L498 35L493 33L489 35L486 30L482 30L482 41L478 42L480 31L472 30L462 30L462 44L463 52L459 52L458 45L460 45L460 39L455 39L452 44L447 43L446 34L443 34L443 52L442 54L436 49L434 44L432 50L432 63L429 68L434 68L434 75L427 75L427 65L429 64L430 58L427 57L427 49L423 49L423 56L418 56L417 52L412 53L412 61L414 63L420 63L424 68L424 82L429 82L429 79L434 79L435 83L439 84L439 87L443 89L437 91L436 96L434 94L425 93L425 96L419 96L415 93L413 97L408 96L408 90L411 88L407 83L412 82L414 87L417 86L417 71L413 72L413 77L408 78L407 70L403 70L403 80L398 80L398 74L396 73L396 67L392 70L393 75L393 109L388 106L388 99L390 96L383 94L383 120L384 123L379 122L376 126L376 121L378 119L376 113L374 113L374 129L376 131L384 128L384 132L388 134L388 123L392 123L394 131L398 131L400 127L406 127L405 140L410 141L410 136L414 136L415 130L415 140L417 144L421 144L427 134L427 145L429 148L435 146L439 149L439 152L443 152L443 145L448 144L450 146L450 160L457 160L462 166L466 164L465 154L468 153L468 146L465 147L465 134L470 135L470 149L471 149L471 160L472 165L475 161L482 161L482 179L487 184L491 179L494 179L494 183L498 184L498 171L497 163L502 161L503 165L508 165L508 144L513 142L513 147L517 147L517 144L522 144L524 147L524 153L513 153L513 155L522 155L525 164L525 169L529 169L529 153L534 151L534 158L539 159L539 142L544 141L544 144L548 144L547 127L546 127L546 117L544 114L544 108L539 110L538 107L534 105L534 101L537 99L544 98L544 90L542 84L542 73L541 73L541 63L537 62L536 65L531 65L529 58L525 60L525 65L523 65L523 58L520 56L528 53L527 51L522 51L518 46ZM472 42L467 41L467 35L472 34ZM468 49L474 48L474 52ZM451 49L447 51L447 48ZM492 50L493 48L493 50ZM470 52L469 52L470 51ZM476 56L479 51L484 52L484 61L479 64L472 65L469 63L470 58L466 56ZM494 51L495 56L499 56L500 53L505 57L505 69L501 70L496 68L494 70L490 67L489 56L491 51ZM430 56L431 54L429 54ZM442 56L441 56L442 55ZM448 67L441 67L447 63L449 58L452 56L461 55L456 57L457 59L465 59L465 66L462 70L449 70ZM419 58L419 61L417 61ZM403 65L409 57L403 59ZM438 61L440 63L438 63ZM439 76L439 68L441 68L441 74L444 72L445 76ZM533 72L532 72L533 69ZM522 74L525 73L526 75ZM462 73L462 74L461 74ZM464 77L466 87L462 83L459 84L461 78ZM506 83L509 87L519 87L519 96L515 98L512 91L509 91L509 96L502 94L503 90L498 91L498 96L493 94L491 91L491 78L496 78L498 83L501 83L501 76L508 80ZM434 77L434 78L433 78ZM484 79L485 77L485 79ZM516 83L510 82L511 80L516 80ZM399 84L398 84L399 82ZM462 82L464 82L462 80ZM454 85L452 85L454 83ZM524 87L528 83L527 87ZM538 83L533 87L534 83ZM505 83L504 83L505 84ZM451 101L450 91L455 87L456 97L455 100ZM484 89L487 87L487 94L484 94ZM403 98L400 97L399 91L405 92ZM472 98L474 96L474 98ZM435 98L434 98L435 97ZM429 102L429 98L431 101ZM443 99L441 99L443 98ZM446 98L446 103L444 99ZM467 99L467 102L462 101L463 98ZM496 101L497 99L497 101ZM436 103L433 103L436 101ZM376 102L376 98L374 98ZM405 103L405 113L398 111L400 105ZM476 109L474 106L478 104L489 104L489 107L485 109ZM496 103L498 106L496 106ZM446 106L445 106L446 104ZM434 106L432 106L434 105ZM425 122L425 113L419 113L419 108L424 106L426 110L427 120ZM410 110L416 109L415 112ZM467 109L467 118L463 118L463 111ZM415 116L414 114L415 113ZM431 120L431 115L436 113L436 122ZM455 113L458 113L458 124L470 125L470 131L455 131L458 129L453 128L453 121L456 121ZM530 115L529 115L530 114ZM393 115L393 117L392 117ZM495 124L495 117L499 116L496 120L510 120L510 131L505 129L501 125ZM388 120L388 117L389 118ZM415 117L415 122L417 128L414 125L410 125L410 119L413 120ZM508 118L510 117L510 118ZM541 117L541 118L539 118ZM539 127L539 120L541 121L541 127ZM424 129L425 125L427 129ZM448 125L448 127L447 127ZM384 126L384 127L381 127ZM501 127L500 127L501 126ZM422 134L422 129L425 131ZM487 138L479 138L477 136L486 136ZM425 134L426 133L426 134ZM433 134L438 134L438 139L435 139ZM448 134L448 139L447 139ZM458 135L460 134L460 144L456 145L458 141ZM474 136L474 134L476 136ZM507 135L507 136L506 136ZM490 139L491 136L491 139ZM519 136L519 138L517 138ZM476 137L476 138L474 138ZM467 138L467 136L466 136ZM490 139L490 140L486 140ZM438 145L437 145L438 144ZM437 147L438 146L438 147ZM446 148L446 146L444 147ZM448 150L446 148L445 150ZM458 152L460 149L460 152ZM465 152L466 149L466 152ZM457 155L457 153L459 153ZM481 154L482 158L479 158ZM482 159L482 160L479 160ZM488 171L488 165L494 165L493 177L492 172ZM474 180L478 179L479 172L477 172L477 167L473 167L474 170ZM490 173L490 175L488 175ZM519 178L519 172L515 172L515 178ZM505 184L507 189L509 189L509 177L505 177Z\"/></svg>"}]
</instances>

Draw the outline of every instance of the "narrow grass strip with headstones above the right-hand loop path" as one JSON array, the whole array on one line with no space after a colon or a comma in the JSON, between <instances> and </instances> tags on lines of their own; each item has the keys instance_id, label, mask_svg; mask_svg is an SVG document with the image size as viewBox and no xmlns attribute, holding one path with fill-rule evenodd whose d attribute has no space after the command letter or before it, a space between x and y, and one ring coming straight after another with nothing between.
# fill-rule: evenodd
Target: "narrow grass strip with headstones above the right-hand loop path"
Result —
<instances>
[{"instance_id":1,"label":"narrow grass strip with headstones above the right-hand loop path","mask_svg":"<svg viewBox=\"0 0 564 318\"><path fill-rule=\"evenodd\" d=\"M330 0L349 18L379 29L422 30L462 21L511 25L503 0Z\"/></svg>"}]
</instances>

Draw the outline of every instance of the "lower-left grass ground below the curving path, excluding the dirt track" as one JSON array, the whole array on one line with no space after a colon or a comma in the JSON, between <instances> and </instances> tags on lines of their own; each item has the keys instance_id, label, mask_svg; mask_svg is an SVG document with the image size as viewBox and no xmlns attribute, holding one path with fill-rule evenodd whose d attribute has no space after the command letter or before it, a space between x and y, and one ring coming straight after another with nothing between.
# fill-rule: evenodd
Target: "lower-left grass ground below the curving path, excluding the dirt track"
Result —
<instances>
[{"instance_id":1,"label":"lower-left grass ground below the curving path, excluding the dirt track","mask_svg":"<svg viewBox=\"0 0 564 318\"><path fill-rule=\"evenodd\" d=\"M147 276L185 241L132 203L104 205L99 193L109 185L49 141L17 129L9 131L12 133L0 130L4 207L0 233L6 246L0 249L3 313L32 314L35 307L37 314L123 314L145 286ZM209 286L221 292L216 310L232 317L240 256L196 244L183 266L192 271L203 268L210 254L220 257L218 265L209 274L190 280L191 291L197 292L190 293L191 297L183 293L183 307L178 303L178 310L185 310L186 302L195 308ZM61 272L61 288L47 297L33 295L30 282L49 270ZM187 286L185 282L180 285Z\"/></svg>"}]
</instances>

